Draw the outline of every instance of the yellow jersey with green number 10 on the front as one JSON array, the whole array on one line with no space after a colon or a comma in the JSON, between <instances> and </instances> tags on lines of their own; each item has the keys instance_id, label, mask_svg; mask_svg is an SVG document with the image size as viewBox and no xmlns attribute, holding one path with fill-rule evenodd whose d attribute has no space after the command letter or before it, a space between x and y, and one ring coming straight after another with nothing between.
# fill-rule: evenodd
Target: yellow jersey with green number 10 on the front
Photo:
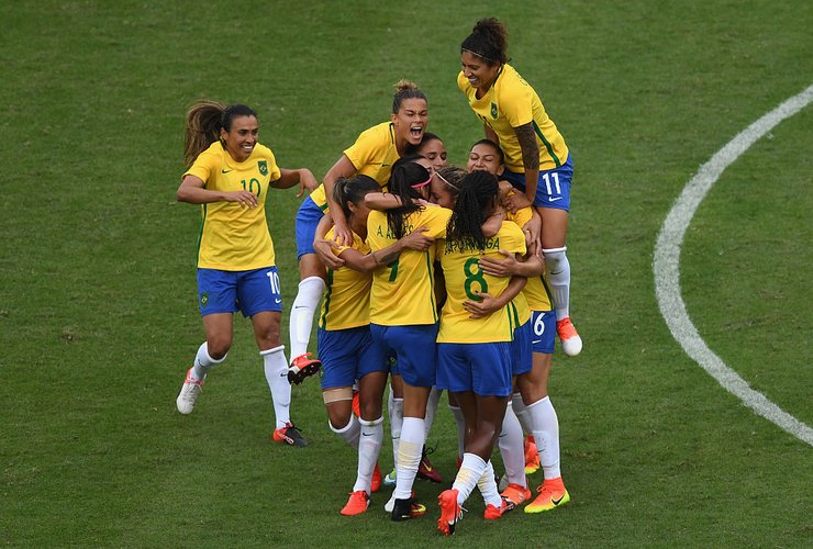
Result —
<instances>
[{"instance_id":1,"label":"yellow jersey with green number 10 on the front","mask_svg":"<svg viewBox=\"0 0 813 549\"><path fill-rule=\"evenodd\" d=\"M198 239L198 268L243 271L275 265L274 242L266 220L266 195L281 177L271 149L257 144L243 163L234 160L220 141L196 158L187 175L214 191L250 191L257 208L236 202L201 204L203 226Z\"/></svg>"}]
</instances>

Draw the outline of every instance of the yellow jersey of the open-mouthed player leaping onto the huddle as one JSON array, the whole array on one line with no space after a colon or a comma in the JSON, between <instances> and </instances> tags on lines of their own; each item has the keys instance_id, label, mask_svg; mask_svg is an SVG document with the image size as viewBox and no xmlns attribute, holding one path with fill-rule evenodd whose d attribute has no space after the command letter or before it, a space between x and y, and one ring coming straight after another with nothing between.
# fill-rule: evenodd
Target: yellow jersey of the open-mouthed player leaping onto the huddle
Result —
<instances>
[{"instance_id":1,"label":"yellow jersey of the open-mouthed player leaping onto the huddle","mask_svg":"<svg viewBox=\"0 0 813 549\"><path fill-rule=\"evenodd\" d=\"M396 128L392 122L382 122L365 130L356 143L344 150L344 154L356 168L355 175L369 176L386 188L387 181L390 180L392 165L400 158L396 148ZM311 193L311 200L323 212L328 211L324 183Z\"/></svg>"}]
</instances>

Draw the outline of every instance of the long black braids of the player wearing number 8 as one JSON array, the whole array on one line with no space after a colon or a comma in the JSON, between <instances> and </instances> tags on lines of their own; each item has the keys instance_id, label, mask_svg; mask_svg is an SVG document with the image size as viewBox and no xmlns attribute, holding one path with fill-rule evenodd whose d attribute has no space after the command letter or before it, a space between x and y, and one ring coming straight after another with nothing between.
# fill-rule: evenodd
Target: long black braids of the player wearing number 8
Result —
<instances>
[{"instance_id":1,"label":"long black braids of the player wearing number 8","mask_svg":"<svg viewBox=\"0 0 813 549\"><path fill-rule=\"evenodd\" d=\"M472 171L463 179L446 227L447 246L486 249L482 224L494 210L498 189L497 178L488 171Z\"/></svg>"}]
</instances>

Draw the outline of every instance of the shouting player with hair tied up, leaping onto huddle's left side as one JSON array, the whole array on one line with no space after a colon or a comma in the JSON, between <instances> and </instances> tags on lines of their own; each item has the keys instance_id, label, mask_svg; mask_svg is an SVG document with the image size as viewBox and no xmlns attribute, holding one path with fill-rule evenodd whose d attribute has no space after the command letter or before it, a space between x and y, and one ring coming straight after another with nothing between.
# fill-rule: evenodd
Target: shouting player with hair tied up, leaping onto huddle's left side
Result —
<instances>
[{"instance_id":1,"label":"shouting player with hair tied up, leaping onto huddle's left side","mask_svg":"<svg viewBox=\"0 0 813 549\"><path fill-rule=\"evenodd\" d=\"M291 307L290 381L300 383L316 373L319 360L308 355L313 315L325 289L325 269L313 249L316 225L322 215L333 216L334 232L339 245L348 245L353 236L342 209L333 201L333 186L339 177L356 173L369 176L381 187L387 184L392 165L406 148L421 143L428 120L426 96L413 82L401 80L396 86L392 113L388 122L361 132L349 148L325 175L323 184L311 193L297 213L297 258L301 282Z\"/></svg>"}]
</instances>

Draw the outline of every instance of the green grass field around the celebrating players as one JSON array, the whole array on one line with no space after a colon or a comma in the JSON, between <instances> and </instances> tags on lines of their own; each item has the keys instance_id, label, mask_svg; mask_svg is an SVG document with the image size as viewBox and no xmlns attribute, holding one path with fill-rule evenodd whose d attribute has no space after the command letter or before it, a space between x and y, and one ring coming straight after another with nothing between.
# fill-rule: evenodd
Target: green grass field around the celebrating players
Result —
<instances>
[{"instance_id":1,"label":"green grass field around the celebrating players","mask_svg":"<svg viewBox=\"0 0 813 549\"><path fill-rule=\"evenodd\" d=\"M200 98L253 105L280 165L321 177L386 120L392 86L409 78L463 163L481 128L455 85L459 44L492 14L575 158L571 310L584 350L557 357L550 382L572 503L487 524L472 494L457 535L441 539L439 489L426 483L419 520L391 523L388 492L365 515L338 514L356 457L328 430L312 380L292 406L312 445L269 442L271 405L242 318L194 414L176 412L203 330L198 210L175 191L183 114ZM528 12L45 0L2 3L0 20L0 544L813 545L811 447L683 352L651 270L660 225L698 167L813 83L810 2L565 0ZM701 204L681 257L708 345L808 425L812 139L809 107L747 150ZM268 202L288 305L294 194ZM444 404L430 441L450 480ZM385 469L391 459L386 444Z\"/></svg>"}]
</instances>

